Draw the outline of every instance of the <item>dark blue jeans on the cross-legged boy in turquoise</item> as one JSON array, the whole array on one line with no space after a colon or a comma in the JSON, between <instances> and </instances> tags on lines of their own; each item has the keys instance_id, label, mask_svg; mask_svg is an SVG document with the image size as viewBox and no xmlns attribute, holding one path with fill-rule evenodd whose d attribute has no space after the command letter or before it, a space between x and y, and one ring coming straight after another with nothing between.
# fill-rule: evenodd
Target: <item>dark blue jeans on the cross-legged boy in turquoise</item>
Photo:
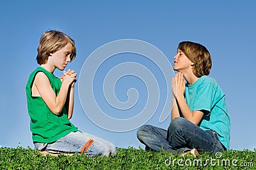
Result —
<instances>
[{"instance_id":1,"label":"dark blue jeans on the cross-legged boy in turquoise","mask_svg":"<svg viewBox=\"0 0 256 170\"><path fill-rule=\"evenodd\" d=\"M174 118L168 131L152 125L143 125L137 131L141 143L156 151L187 152L196 148L199 153L221 152L225 147L215 131L203 131L186 118Z\"/></svg>"}]
</instances>

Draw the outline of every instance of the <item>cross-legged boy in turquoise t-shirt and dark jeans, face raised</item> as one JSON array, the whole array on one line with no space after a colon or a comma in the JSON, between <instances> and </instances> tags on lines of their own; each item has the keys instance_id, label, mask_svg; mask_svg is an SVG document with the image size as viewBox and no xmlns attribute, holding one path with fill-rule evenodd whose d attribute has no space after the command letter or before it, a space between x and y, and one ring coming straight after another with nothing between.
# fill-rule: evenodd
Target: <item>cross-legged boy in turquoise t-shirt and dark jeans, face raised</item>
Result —
<instances>
[{"instance_id":1,"label":"cross-legged boy in turquoise t-shirt and dark jeans, face raised","mask_svg":"<svg viewBox=\"0 0 256 170\"><path fill-rule=\"evenodd\" d=\"M137 137L146 149L169 152L221 152L229 150L230 118L225 94L209 73L211 55L191 41L179 44L172 78L172 121L168 130L143 125ZM185 83L184 78L187 83Z\"/></svg>"}]
</instances>

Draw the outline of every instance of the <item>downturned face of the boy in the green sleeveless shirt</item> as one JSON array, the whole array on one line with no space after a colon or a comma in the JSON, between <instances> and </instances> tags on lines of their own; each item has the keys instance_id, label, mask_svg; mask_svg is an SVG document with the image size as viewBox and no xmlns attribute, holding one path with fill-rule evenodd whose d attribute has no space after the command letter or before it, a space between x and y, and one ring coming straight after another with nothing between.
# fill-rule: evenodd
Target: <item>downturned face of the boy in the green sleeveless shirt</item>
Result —
<instances>
[{"instance_id":1,"label":"downturned face of the boy in the green sleeveless shirt","mask_svg":"<svg viewBox=\"0 0 256 170\"><path fill-rule=\"evenodd\" d=\"M70 62L70 54L72 53L72 49L72 44L67 43L67 45L60 50L51 53L51 58L49 57L49 59L51 60L52 65L60 70L64 70L68 62Z\"/></svg>"}]
</instances>

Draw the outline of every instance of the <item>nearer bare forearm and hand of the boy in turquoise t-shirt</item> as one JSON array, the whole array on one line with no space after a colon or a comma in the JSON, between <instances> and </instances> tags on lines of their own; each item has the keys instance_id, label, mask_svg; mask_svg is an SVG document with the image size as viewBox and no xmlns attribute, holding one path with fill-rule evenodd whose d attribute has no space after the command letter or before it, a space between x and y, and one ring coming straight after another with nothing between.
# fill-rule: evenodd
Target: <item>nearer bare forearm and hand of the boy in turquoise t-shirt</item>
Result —
<instances>
[{"instance_id":1,"label":"nearer bare forearm and hand of the boy in turquoise t-shirt","mask_svg":"<svg viewBox=\"0 0 256 170\"><path fill-rule=\"evenodd\" d=\"M177 100L177 105L179 106L182 115L193 124L198 125L202 117L204 116L204 113L202 111L191 111L189 109L184 97L185 81L183 80L182 73L178 73L175 75L175 85L177 90L175 99Z\"/></svg>"}]
</instances>

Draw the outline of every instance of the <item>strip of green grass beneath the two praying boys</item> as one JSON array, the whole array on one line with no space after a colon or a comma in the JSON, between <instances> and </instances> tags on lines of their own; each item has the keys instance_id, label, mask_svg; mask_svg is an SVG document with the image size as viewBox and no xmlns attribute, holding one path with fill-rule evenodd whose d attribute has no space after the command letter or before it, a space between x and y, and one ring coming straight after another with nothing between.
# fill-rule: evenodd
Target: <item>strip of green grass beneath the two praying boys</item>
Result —
<instances>
[{"instance_id":1,"label":"strip of green grass beneath the two praying boys","mask_svg":"<svg viewBox=\"0 0 256 170\"><path fill-rule=\"evenodd\" d=\"M0 148L1 169L256 169L255 152L230 150L180 157L169 152L147 152L141 148L117 148L109 157L42 156L31 148ZM216 157L217 156L217 157ZM219 157L219 158L218 158Z\"/></svg>"}]
</instances>

